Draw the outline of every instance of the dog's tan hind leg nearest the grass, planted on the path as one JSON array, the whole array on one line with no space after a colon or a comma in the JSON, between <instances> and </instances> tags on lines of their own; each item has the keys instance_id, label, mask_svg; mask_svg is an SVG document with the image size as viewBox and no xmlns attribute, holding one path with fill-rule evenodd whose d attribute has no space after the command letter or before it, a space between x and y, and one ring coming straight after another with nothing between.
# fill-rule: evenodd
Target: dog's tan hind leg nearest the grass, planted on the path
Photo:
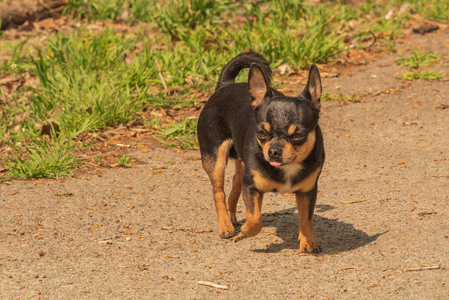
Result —
<instances>
[{"instance_id":1,"label":"dog's tan hind leg nearest the grass, planted on the path","mask_svg":"<svg viewBox=\"0 0 449 300\"><path fill-rule=\"evenodd\" d=\"M225 140L218 147L214 159L203 157L204 169L209 175L212 183L215 208L218 217L218 230L220 237L222 238L231 238L234 236L234 226L232 225L228 208L226 207L226 195L224 193L225 169L228 163L229 151L232 146L233 142L231 139Z\"/></svg>"}]
</instances>

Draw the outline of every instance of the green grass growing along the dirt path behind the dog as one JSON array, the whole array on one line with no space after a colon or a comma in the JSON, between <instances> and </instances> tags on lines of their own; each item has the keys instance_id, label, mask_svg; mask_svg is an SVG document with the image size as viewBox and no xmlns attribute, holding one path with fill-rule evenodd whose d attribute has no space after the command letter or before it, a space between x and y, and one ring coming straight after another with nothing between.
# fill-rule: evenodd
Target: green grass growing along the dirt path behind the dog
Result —
<instances>
[{"instance_id":1,"label":"green grass growing along the dirt path behind the dog","mask_svg":"<svg viewBox=\"0 0 449 300\"><path fill-rule=\"evenodd\" d=\"M212 91L229 59L248 49L266 56L273 68L282 63L307 68L336 59L348 47L345 36L363 38L371 30L383 33L394 50L409 14L384 16L404 2L69 0L65 13L70 16L134 27L81 26L50 35L39 46L31 38L0 41L9 58L0 66L0 78L39 80L36 88L0 91L0 164L8 168L8 178L69 177L80 163L73 151L86 146L76 142L77 135L127 123L143 107L191 107L198 92ZM447 0L407 2L427 18L448 18ZM415 58L415 64L431 60L423 55L427 58ZM325 100L356 102L358 97L325 94ZM165 143L197 147L195 119L147 122ZM58 127L51 138L41 136L39 128L46 124ZM126 156L119 161L129 163Z\"/></svg>"}]
</instances>

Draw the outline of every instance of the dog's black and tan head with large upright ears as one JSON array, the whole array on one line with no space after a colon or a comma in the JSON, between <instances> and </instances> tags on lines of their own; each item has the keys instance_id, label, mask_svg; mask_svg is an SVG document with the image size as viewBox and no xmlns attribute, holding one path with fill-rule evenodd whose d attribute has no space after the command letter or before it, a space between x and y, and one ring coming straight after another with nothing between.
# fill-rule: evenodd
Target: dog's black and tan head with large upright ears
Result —
<instances>
[{"instance_id":1,"label":"dog's black and tan head with large upright ears","mask_svg":"<svg viewBox=\"0 0 449 300\"><path fill-rule=\"evenodd\" d=\"M257 122L255 132L264 158L274 167L299 164L315 146L320 113L321 78L315 64L298 97L272 90L261 68L252 64L248 87Z\"/></svg>"}]
</instances>

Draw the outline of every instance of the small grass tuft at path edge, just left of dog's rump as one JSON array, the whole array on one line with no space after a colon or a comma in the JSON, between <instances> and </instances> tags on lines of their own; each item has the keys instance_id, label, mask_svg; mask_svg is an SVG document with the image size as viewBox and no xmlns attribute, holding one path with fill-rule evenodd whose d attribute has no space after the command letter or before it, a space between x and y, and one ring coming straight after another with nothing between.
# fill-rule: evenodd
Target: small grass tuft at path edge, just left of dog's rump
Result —
<instances>
[{"instance_id":1,"label":"small grass tuft at path edge, just left of dog's rump","mask_svg":"<svg viewBox=\"0 0 449 300\"><path fill-rule=\"evenodd\" d=\"M170 147L180 147L183 149L198 148L196 137L196 126L198 120L186 118L178 123L172 123L168 128L161 130L161 137L164 144Z\"/></svg>"}]
</instances>

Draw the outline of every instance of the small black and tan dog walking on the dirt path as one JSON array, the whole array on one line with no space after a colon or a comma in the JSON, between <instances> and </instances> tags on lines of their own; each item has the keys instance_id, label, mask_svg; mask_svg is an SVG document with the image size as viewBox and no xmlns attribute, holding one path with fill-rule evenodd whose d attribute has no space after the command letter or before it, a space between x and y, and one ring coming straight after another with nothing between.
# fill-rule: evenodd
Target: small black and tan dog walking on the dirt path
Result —
<instances>
[{"instance_id":1,"label":"small black and tan dog walking on the dirt path","mask_svg":"<svg viewBox=\"0 0 449 300\"><path fill-rule=\"evenodd\" d=\"M249 68L247 83L234 83ZM295 193L299 215L300 252L321 251L313 234L318 178L324 144L318 125L321 77L312 64L307 83L297 97L270 87L271 69L257 53L242 53L223 68L215 92L198 119L198 142L204 170L212 183L222 238L238 241L262 229L264 193ZM235 175L227 203L225 168L235 160ZM236 206L242 194L246 221L236 236Z\"/></svg>"}]
</instances>

